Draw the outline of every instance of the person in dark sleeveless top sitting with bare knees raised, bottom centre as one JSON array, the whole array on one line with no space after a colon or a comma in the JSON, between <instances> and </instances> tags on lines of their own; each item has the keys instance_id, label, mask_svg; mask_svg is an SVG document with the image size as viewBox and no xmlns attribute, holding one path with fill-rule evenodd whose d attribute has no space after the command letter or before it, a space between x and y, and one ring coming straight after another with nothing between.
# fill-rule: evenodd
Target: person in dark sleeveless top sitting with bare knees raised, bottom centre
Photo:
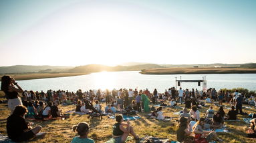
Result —
<instances>
[{"instance_id":1,"label":"person in dark sleeveless top sitting with bare knees raised, bottom centre","mask_svg":"<svg viewBox=\"0 0 256 143\"><path fill-rule=\"evenodd\" d=\"M116 143L123 143L129 134L134 136L136 142L140 141L140 138L134 132L132 126L130 126L130 121L124 122L123 116L121 114L116 115L116 124L113 126L113 138Z\"/></svg>"}]
</instances>

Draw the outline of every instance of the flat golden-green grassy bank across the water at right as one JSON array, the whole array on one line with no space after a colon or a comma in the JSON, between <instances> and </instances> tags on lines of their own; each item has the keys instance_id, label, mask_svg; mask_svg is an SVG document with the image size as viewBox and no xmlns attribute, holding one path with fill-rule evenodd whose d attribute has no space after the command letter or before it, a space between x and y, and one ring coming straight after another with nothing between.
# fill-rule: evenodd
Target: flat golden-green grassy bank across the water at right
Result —
<instances>
[{"instance_id":1,"label":"flat golden-green grassy bank across the water at right","mask_svg":"<svg viewBox=\"0 0 256 143\"><path fill-rule=\"evenodd\" d=\"M256 73L256 69L241 68L161 68L142 70L142 74L229 74Z\"/></svg>"}]
</instances>

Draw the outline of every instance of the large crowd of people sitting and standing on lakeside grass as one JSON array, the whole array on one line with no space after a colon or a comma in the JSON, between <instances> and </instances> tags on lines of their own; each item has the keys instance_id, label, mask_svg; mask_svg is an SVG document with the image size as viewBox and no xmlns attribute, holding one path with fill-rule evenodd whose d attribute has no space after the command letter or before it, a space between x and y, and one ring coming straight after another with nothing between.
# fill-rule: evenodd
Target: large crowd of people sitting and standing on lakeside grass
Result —
<instances>
[{"instance_id":1,"label":"large crowd of people sitting and standing on lakeside grass","mask_svg":"<svg viewBox=\"0 0 256 143\"><path fill-rule=\"evenodd\" d=\"M253 96L247 96L238 91L231 93L230 90L215 90L209 88L207 91L199 90L183 90L172 87L165 90L164 93L159 93L156 89L150 92L132 88L121 88L120 90L88 90L82 92L70 92L68 90L47 90L47 92L34 92L32 90L23 90L19 84L11 76L3 76L1 79L1 90L5 92L8 100L8 107L11 110L11 115L7 118L7 134L11 140L25 141L29 140L40 132L41 126L31 127L30 122L25 122L26 118L68 118L58 108L59 104L72 105L76 104L76 112L90 113L94 112L102 114L108 112L116 115L116 124L113 128L113 138L116 142L124 142L129 134L139 140L138 135L134 132L130 122L124 122L121 114L117 114L120 110L130 108L136 112L150 112L150 102L152 104L168 101L168 105L177 106L184 104L182 114L180 114L179 123L177 125L177 140L183 142L189 140L193 134L193 138L205 138L208 142L211 140L219 140L216 132L205 131L209 128L223 128L224 120L236 120L237 114L245 114L242 110L243 103L251 104ZM19 95L19 93L22 93ZM205 102L213 104L219 102L220 108L217 112L213 110L213 106L205 112L204 118L201 116L198 108L205 105ZM102 102L106 102L104 110ZM231 104L231 110L225 114L223 110L223 102ZM164 120L162 107L152 110L152 116L158 120ZM20 128L17 128L19 126ZM254 128L253 128L254 129ZM89 124L80 122L74 126L73 130L78 132L79 136L72 139L72 142L94 142L88 138ZM256 132L256 130L255 130ZM41 134L42 136L45 133Z\"/></svg>"}]
</instances>

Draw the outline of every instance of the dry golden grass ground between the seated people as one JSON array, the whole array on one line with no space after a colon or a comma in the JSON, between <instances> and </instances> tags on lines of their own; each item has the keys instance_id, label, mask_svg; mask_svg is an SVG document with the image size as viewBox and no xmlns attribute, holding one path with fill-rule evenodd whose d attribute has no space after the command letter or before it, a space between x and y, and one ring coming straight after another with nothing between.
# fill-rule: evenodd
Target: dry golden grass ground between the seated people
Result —
<instances>
[{"instance_id":1,"label":"dry golden grass ground between the seated people","mask_svg":"<svg viewBox=\"0 0 256 143\"><path fill-rule=\"evenodd\" d=\"M0 93L1 94L1 93ZM105 106L106 104L102 104ZM74 105L70 106L59 106L59 108L63 109L64 112L68 110L72 110L75 108ZM201 111L201 116L206 112L207 108L209 108L209 104L204 108L199 109ZM217 106L214 106L214 109L217 110ZM0 116L0 133L6 133L6 118L9 116L9 109L7 108L7 104L0 104L1 116ZM180 111L180 109L174 108L163 108L164 115L172 116L171 122L162 122L155 119L148 119L144 115L146 113L139 113L138 115L141 117L138 120L131 121L132 126L134 126L135 132L140 136L156 136L159 138L169 138L170 140L176 140L176 124L175 121L178 115L173 114L176 111ZM227 109L225 112L227 113ZM244 109L244 112L255 112L253 109ZM112 138L112 126L115 123L115 120L104 116L102 120L98 118L94 118L89 120L88 115L78 115L71 114L70 118L66 120L51 120L44 122L34 122L34 126L41 125L43 126L42 132L47 132L45 138L35 138L30 140L29 142L71 142L72 138L76 136L76 133L72 131L72 126L78 124L79 122L88 122L90 124L90 134L89 137L93 138L95 142L106 142L110 138ZM239 120L242 120L241 115L239 115ZM218 135L224 140L224 142L230 143L238 143L238 142L256 142L256 140L247 138L245 131L247 130L249 124L245 124L245 122L225 122L227 124L230 132L228 133L218 133ZM133 139L128 142L134 142Z\"/></svg>"}]
</instances>

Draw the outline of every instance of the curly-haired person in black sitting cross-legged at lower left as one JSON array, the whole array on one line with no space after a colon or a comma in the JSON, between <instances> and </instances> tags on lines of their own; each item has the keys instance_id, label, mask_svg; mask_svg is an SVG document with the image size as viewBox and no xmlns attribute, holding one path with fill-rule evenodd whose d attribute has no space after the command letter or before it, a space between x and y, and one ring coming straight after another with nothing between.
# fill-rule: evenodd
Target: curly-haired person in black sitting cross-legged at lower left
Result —
<instances>
[{"instance_id":1,"label":"curly-haired person in black sitting cross-legged at lower left","mask_svg":"<svg viewBox=\"0 0 256 143\"><path fill-rule=\"evenodd\" d=\"M27 141L37 134L42 127L35 126L31 127L31 123L25 122L23 116L26 114L27 108L22 105L18 105L15 107L13 114L7 118L7 134L11 140L14 142L23 142ZM45 133L41 134L44 136Z\"/></svg>"}]
</instances>

